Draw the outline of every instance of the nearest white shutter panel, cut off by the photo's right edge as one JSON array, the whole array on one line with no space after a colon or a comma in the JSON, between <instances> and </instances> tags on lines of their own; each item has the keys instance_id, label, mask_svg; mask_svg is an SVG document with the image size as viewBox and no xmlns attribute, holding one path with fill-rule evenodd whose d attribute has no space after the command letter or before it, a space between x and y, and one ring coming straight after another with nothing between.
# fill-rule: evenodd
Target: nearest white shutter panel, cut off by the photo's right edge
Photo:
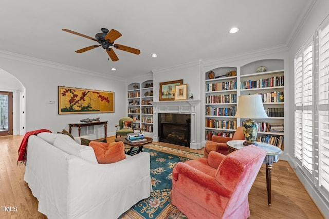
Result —
<instances>
[{"instance_id":1,"label":"nearest white shutter panel, cut off by the photo's right edge","mask_svg":"<svg viewBox=\"0 0 329 219\"><path fill-rule=\"evenodd\" d=\"M329 26L319 30L319 187L329 193Z\"/></svg>"}]
</instances>

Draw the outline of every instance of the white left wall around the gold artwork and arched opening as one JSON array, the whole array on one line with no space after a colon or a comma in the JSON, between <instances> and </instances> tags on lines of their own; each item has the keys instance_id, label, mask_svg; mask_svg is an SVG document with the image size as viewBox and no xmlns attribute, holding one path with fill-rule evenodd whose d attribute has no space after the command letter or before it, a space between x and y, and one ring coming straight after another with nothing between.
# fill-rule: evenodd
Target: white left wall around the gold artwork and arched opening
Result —
<instances>
[{"instance_id":1,"label":"white left wall around the gold artwork and arched opening","mask_svg":"<svg viewBox=\"0 0 329 219\"><path fill-rule=\"evenodd\" d=\"M12 82L17 78L26 89L25 115L26 131L35 129L49 129L52 132L68 130L68 123L80 122L83 118L100 117L108 121L107 135L115 135L115 125L119 118L126 116L126 82L120 78L104 78L95 72L86 72L81 69L45 62L17 54L0 52L0 69L13 75L1 79L0 90L6 84L12 84L7 89L17 89L19 84ZM58 114L58 86L96 89L115 92L114 113L90 114ZM21 89L21 88L20 88ZM54 101L54 104L49 104ZM72 134L77 136L77 130L72 129ZM24 134L24 133L23 133ZM103 126L95 127L95 138L104 136Z\"/></svg>"}]
</instances>

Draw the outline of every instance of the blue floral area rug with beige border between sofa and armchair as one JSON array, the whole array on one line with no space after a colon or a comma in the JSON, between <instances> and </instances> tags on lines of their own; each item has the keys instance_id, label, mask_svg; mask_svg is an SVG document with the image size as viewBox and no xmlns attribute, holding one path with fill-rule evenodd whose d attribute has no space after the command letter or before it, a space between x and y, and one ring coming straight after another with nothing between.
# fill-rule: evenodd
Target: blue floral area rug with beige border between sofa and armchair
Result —
<instances>
[{"instance_id":1,"label":"blue floral area rug with beige border between sofa and armchair","mask_svg":"<svg viewBox=\"0 0 329 219\"><path fill-rule=\"evenodd\" d=\"M153 192L150 197L141 200L119 218L187 218L171 204L172 171L178 162L185 162L204 155L155 144L145 145L143 151L149 152L151 157Z\"/></svg>"}]
</instances>

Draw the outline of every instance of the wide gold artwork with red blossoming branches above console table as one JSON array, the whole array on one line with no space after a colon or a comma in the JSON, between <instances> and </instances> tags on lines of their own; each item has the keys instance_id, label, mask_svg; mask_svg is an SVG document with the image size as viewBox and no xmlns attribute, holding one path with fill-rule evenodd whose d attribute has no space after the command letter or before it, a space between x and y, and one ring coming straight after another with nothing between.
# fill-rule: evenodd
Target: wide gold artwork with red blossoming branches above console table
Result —
<instances>
[{"instance_id":1,"label":"wide gold artwork with red blossoming branches above console table","mask_svg":"<svg viewBox=\"0 0 329 219\"><path fill-rule=\"evenodd\" d=\"M114 92L58 86L58 114L114 112Z\"/></svg>"}]
</instances>

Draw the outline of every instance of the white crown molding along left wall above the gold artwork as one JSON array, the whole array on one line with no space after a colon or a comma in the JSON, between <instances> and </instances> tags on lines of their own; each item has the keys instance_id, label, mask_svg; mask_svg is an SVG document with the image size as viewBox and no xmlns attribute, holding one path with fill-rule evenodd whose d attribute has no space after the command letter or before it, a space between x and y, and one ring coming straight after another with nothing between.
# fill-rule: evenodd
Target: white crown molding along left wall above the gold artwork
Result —
<instances>
[{"instance_id":1,"label":"white crown molding along left wall above the gold artwork","mask_svg":"<svg viewBox=\"0 0 329 219\"><path fill-rule=\"evenodd\" d=\"M28 64L32 64L32 65L38 65L38 66L43 66L43 67L48 67L48 68L53 68L53 69L74 72L77 74L85 74L85 75L90 75L90 76L102 77L102 78L112 79L112 80L116 80L116 81L120 81L120 82L126 81L125 78L120 78L120 77L116 77L113 75L106 76L99 72L89 71L89 70L82 69L82 68L77 68L77 67L73 67L73 66L50 62L50 61L46 61L46 60L43 60L40 58L34 58L31 56L8 52L5 50L0 50L0 57L11 59L13 61L24 62L24 63L28 63Z\"/></svg>"}]
</instances>

